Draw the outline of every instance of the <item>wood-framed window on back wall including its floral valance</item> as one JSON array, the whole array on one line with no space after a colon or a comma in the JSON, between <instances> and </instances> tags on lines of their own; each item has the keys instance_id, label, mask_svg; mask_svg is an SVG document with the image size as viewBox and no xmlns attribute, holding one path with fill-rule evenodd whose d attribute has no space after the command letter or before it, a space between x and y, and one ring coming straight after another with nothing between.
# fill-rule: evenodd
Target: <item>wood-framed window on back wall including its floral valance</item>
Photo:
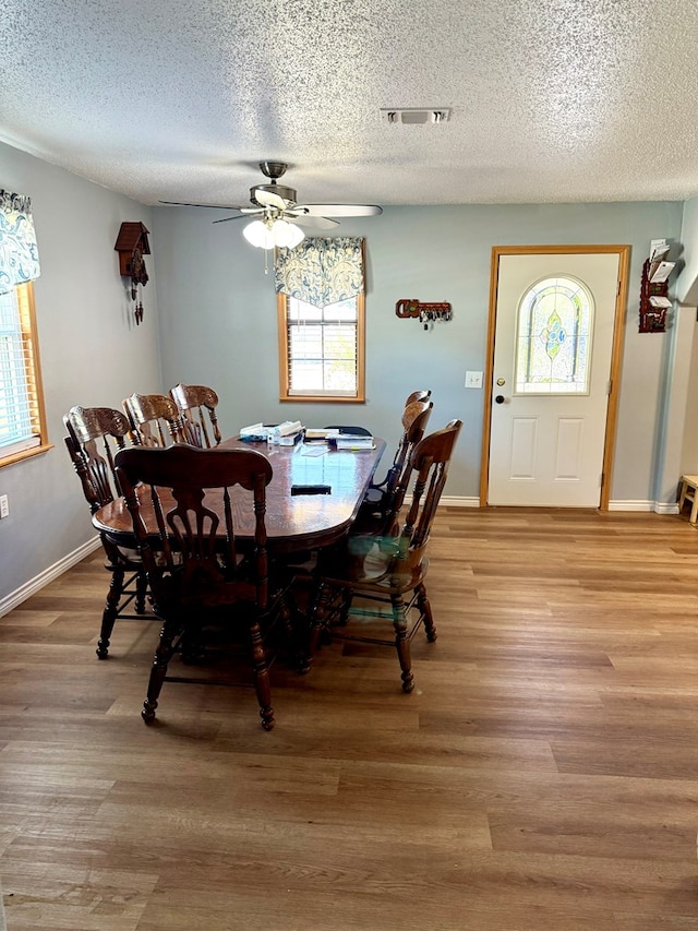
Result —
<instances>
[{"instance_id":1,"label":"wood-framed window on back wall including its floral valance","mask_svg":"<svg viewBox=\"0 0 698 931\"><path fill-rule=\"evenodd\" d=\"M363 240L279 250L275 277L280 399L363 402Z\"/></svg>"}]
</instances>

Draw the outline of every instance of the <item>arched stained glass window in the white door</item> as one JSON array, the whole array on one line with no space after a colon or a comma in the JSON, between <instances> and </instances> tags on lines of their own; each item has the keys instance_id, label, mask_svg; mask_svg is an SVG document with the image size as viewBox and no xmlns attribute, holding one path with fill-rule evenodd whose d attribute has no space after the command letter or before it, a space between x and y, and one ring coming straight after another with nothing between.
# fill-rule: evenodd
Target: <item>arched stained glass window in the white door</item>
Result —
<instances>
[{"instance_id":1,"label":"arched stained glass window in the white door","mask_svg":"<svg viewBox=\"0 0 698 931\"><path fill-rule=\"evenodd\" d=\"M515 394L589 394L593 300L574 278L544 278L517 314Z\"/></svg>"}]
</instances>

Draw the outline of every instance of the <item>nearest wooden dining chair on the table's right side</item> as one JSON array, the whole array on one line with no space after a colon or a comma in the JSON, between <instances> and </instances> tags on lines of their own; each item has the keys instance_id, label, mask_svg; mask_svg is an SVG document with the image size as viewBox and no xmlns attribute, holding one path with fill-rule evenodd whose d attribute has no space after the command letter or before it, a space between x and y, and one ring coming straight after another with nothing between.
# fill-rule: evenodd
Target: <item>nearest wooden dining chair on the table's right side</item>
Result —
<instances>
[{"instance_id":1,"label":"nearest wooden dining chair on the table's right side","mask_svg":"<svg viewBox=\"0 0 698 931\"><path fill-rule=\"evenodd\" d=\"M412 486L411 501L398 537L385 546L383 535L349 535L321 550L315 590L310 606L310 635L303 671L310 668L321 634L364 643L394 645L400 664L402 690L414 688L410 641L421 624L426 640L436 628L424 580L426 549L448 465L462 423L452 420L424 437L412 450L404 489ZM385 626L381 605L389 606L393 636L376 635Z\"/></svg>"}]
</instances>

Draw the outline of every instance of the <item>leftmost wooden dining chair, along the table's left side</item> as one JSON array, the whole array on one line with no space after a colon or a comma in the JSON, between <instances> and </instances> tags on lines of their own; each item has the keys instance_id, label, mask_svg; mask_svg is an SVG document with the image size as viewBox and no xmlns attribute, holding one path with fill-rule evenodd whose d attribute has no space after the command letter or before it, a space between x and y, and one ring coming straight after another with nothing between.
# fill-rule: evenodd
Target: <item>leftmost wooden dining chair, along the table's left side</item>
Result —
<instances>
[{"instance_id":1,"label":"leftmost wooden dining chair, along the table's left side","mask_svg":"<svg viewBox=\"0 0 698 931\"><path fill-rule=\"evenodd\" d=\"M113 458L127 446L129 421L111 407L71 407L63 423L68 453L94 514L121 496ZM97 644L97 656L106 659L117 618L145 620L152 614L146 613L147 581L137 552L117 546L104 533L100 540L107 557L105 568L111 574Z\"/></svg>"}]
</instances>

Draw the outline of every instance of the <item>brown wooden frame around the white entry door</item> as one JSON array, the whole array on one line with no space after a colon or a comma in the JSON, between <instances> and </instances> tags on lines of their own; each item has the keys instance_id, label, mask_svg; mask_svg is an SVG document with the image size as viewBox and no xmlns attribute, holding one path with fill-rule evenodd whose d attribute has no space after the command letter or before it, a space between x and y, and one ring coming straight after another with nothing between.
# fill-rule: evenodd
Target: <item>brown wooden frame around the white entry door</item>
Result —
<instances>
[{"instance_id":1,"label":"brown wooden frame around the white entry door","mask_svg":"<svg viewBox=\"0 0 698 931\"><path fill-rule=\"evenodd\" d=\"M611 475L615 453L615 433L621 395L621 367L625 335L625 314L627 308L628 270L630 266L629 246L493 246L490 267L490 313L488 320L488 346L484 372L484 404L482 415L482 456L480 463L480 506L488 506L490 491L490 439L492 432L492 379L494 377L494 341L496 336L497 286L500 281L500 259L502 255L570 255L570 254L614 253L618 256L618 290L615 298L613 322L613 348L611 353L611 384L606 407L606 427L603 442L603 470L601 475L600 511L609 510L611 494Z\"/></svg>"}]
</instances>

